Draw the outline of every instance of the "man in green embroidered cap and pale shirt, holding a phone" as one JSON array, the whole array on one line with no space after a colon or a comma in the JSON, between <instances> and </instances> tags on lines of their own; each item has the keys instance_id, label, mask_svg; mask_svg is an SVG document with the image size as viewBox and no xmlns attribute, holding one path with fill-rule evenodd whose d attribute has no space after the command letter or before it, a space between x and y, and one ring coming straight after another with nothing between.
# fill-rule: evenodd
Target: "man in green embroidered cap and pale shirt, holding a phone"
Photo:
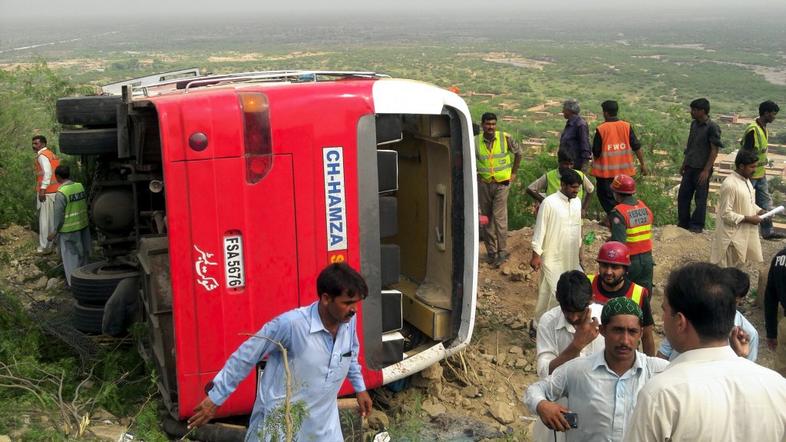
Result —
<instances>
[{"instance_id":1,"label":"man in green embroidered cap and pale shirt, holding a phone","mask_svg":"<svg viewBox=\"0 0 786 442\"><path fill-rule=\"evenodd\" d=\"M524 402L568 441L622 441L637 395L668 362L636 351L642 336L641 308L628 298L609 300L601 313L605 349L568 361L527 388ZM567 397L567 406L556 401ZM575 413L571 429L564 413ZM663 440L663 439L650 439Z\"/></svg>"}]
</instances>

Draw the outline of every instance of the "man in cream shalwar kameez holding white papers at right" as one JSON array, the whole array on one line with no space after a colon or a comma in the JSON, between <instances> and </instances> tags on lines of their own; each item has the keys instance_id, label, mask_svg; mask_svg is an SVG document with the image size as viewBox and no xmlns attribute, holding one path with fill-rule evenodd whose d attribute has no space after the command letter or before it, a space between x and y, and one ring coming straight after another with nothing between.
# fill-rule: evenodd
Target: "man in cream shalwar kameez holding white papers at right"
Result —
<instances>
[{"instance_id":1,"label":"man in cream shalwar kameez holding white papers at right","mask_svg":"<svg viewBox=\"0 0 786 442\"><path fill-rule=\"evenodd\" d=\"M740 150L734 160L736 170L721 184L710 255L713 264L741 268L748 262L763 261L757 226L764 211L756 205L756 191L750 182L756 164L754 153Z\"/></svg>"}]
</instances>

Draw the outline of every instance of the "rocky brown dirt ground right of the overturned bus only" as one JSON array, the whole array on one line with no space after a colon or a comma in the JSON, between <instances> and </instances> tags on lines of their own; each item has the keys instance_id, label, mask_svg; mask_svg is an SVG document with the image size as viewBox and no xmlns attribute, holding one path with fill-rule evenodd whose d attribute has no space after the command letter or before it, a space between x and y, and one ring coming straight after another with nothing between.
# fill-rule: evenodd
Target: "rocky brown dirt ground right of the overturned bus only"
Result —
<instances>
[{"instance_id":1,"label":"rocky brown dirt ground right of the overturned bus only","mask_svg":"<svg viewBox=\"0 0 786 442\"><path fill-rule=\"evenodd\" d=\"M595 256L609 236L596 222L585 221L582 233L590 231L596 240L584 247L582 255L588 272L597 271ZM414 376L414 388L390 399L393 409L407 409L420 398L425 418L431 422L431 436L436 439L530 440L536 416L529 413L521 398L527 386L537 380L535 347L527 328L535 309L538 280L529 268L531 237L532 228L510 232L510 260L500 269L480 265L477 319L470 347L461 357L443 362L441 368ZM652 307L658 344L663 336L661 302L666 279L673 268L684 263L708 261L711 238L712 231L694 234L675 226L655 229ZM741 308L759 331L757 362L766 367L772 367L773 354L764 342L764 314L757 294L763 293L766 281L760 280L759 274L766 277L771 257L784 246L786 241L762 240L765 262L747 269L752 293Z\"/></svg>"}]
</instances>

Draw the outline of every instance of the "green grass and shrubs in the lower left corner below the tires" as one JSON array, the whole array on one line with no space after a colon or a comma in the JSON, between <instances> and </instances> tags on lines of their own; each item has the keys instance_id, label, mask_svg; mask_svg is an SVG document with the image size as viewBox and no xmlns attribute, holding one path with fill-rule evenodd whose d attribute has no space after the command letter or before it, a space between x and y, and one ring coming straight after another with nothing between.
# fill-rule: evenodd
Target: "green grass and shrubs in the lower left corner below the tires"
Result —
<instances>
[{"instance_id":1,"label":"green grass and shrubs in the lower left corner below the tires","mask_svg":"<svg viewBox=\"0 0 786 442\"><path fill-rule=\"evenodd\" d=\"M65 405L79 416L99 408L118 417L138 413L135 432L147 435L144 440L166 440L155 413L158 402L150 401L157 396L154 378L133 345L100 347L83 365L71 347L40 328L47 318L31 317L20 296L0 290L0 434L70 440L76 424L62 413Z\"/></svg>"}]
</instances>

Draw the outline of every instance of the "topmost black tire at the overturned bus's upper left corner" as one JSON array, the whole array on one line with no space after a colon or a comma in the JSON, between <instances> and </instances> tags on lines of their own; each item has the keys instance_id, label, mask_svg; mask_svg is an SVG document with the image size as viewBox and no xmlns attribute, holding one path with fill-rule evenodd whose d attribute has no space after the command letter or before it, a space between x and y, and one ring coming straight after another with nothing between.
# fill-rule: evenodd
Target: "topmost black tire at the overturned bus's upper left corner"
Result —
<instances>
[{"instance_id":1,"label":"topmost black tire at the overturned bus's upper left corner","mask_svg":"<svg viewBox=\"0 0 786 442\"><path fill-rule=\"evenodd\" d=\"M122 104L117 95L67 97L57 100L57 122L74 126L116 126L117 107Z\"/></svg>"}]
</instances>

